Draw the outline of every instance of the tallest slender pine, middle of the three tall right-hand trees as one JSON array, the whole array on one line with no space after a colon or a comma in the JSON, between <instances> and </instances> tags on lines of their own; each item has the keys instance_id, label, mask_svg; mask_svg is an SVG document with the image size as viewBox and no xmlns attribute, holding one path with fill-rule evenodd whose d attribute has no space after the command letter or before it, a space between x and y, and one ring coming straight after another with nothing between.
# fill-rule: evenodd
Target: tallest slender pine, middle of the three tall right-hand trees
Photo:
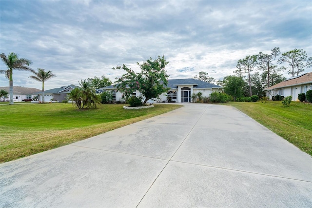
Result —
<instances>
[{"instance_id":1,"label":"tallest slender pine, middle of the three tall right-hand trees","mask_svg":"<svg viewBox=\"0 0 312 208\"><path fill-rule=\"evenodd\" d=\"M274 67L273 62L275 58L280 54L279 48L275 47L271 50L271 54L264 54L262 52L258 55L258 66L259 69L262 69L267 72L268 80L267 87L270 87L270 75L271 69Z\"/></svg>"}]
</instances>

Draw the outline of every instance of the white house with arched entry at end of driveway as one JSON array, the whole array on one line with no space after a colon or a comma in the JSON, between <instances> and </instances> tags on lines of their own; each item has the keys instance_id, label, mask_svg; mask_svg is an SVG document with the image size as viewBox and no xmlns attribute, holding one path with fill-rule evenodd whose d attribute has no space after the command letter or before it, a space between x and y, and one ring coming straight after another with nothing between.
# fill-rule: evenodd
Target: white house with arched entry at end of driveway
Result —
<instances>
[{"instance_id":1,"label":"white house with arched entry at end of driveway","mask_svg":"<svg viewBox=\"0 0 312 208\"><path fill-rule=\"evenodd\" d=\"M167 98L171 98L172 101L176 103L191 103L192 102L192 94L202 92L203 96L209 97L212 92L222 91L221 86L206 83L200 80L195 79L175 79L168 80L168 85L170 89L167 93L164 93L159 96L157 102L168 101ZM121 99L122 94L117 91L116 84L110 85L101 88L103 90L109 91L112 93L113 101L118 101ZM133 94L133 97L139 97L140 92L136 90ZM155 101L149 100L149 103L153 103Z\"/></svg>"}]
</instances>

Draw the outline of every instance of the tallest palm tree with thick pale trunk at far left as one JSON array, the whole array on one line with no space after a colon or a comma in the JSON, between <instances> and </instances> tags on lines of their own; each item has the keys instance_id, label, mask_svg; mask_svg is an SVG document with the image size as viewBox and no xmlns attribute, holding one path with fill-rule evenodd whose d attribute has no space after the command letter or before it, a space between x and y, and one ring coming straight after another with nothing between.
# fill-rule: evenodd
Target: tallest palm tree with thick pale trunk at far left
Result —
<instances>
[{"instance_id":1,"label":"tallest palm tree with thick pale trunk at far left","mask_svg":"<svg viewBox=\"0 0 312 208\"><path fill-rule=\"evenodd\" d=\"M31 71L35 72L32 68L28 67L32 62L28 59L19 58L19 55L11 52L8 56L4 53L0 54L2 62L7 66L7 70L0 70L0 74L5 74L10 83L10 104L13 102L13 70Z\"/></svg>"}]
</instances>

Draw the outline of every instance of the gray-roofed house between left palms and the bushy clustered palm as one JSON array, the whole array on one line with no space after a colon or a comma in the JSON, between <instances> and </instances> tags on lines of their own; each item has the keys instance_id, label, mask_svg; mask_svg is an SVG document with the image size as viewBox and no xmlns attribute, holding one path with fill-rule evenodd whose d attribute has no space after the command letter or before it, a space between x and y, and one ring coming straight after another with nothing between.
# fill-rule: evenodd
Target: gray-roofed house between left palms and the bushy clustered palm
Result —
<instances>
[{"instance_id":1,"label":"gray-roofed house between left palms and the bushy clustered palm","mask_svg":"<svg viewBox=\"0 0 312 208\"><path fill-rule=\"evenodd\" d=\"M70 84L68 86L61 86L59 88L44 90L44 102L49 102L52 100L62 102L66 100L66 95L77 87L78 86L76 85ZM38 98L40 102L42 102L42 94L43 92L40 90L40 92L38 93Z\"/></svg>"}]
</instances>

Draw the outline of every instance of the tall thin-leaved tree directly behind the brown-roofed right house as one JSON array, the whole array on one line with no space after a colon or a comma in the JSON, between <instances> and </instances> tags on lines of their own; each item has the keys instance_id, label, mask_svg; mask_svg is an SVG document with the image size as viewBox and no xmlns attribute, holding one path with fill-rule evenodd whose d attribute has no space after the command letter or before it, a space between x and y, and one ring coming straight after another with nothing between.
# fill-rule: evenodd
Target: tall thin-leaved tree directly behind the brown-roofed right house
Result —
<instances>
[{"instance_id":1,"label":"tall thin-leaved tree directly behind the brown-roofed right house","mask_svg":"<svg viewBox=\"0 0 312 208\"><path fill-rule=\"evenodd\" d=\"M287 62L289 64L288 74L298 76L299 73L303 72L305 67L309 68L312 66L312 57L309 59L307 52L303 49L293 49L282 54L282 57L278 59L278 63Z\"/></svg>"}]
</instances>

